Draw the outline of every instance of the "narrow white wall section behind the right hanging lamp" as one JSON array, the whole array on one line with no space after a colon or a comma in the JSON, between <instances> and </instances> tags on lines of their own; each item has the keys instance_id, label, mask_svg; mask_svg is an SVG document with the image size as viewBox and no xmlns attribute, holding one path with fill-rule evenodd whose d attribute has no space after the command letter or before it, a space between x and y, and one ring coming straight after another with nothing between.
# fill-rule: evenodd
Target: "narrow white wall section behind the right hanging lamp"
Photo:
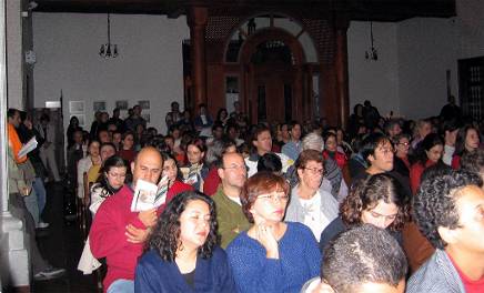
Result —
<instances>
[{"instance_id":1,"label":"narrow white wall section behind the right hanging lamp","mask_svg":"<svg viewBox=\"0 0 484 293\"><path fill-rule=\"evenodd\" d=\"M347 30L350 113L364 100L386 115L401 113L399 99L397 24L373 22L374 47L379 60L366 60L370 49L370 22L352 21Z\"/></svg>"}]
</instances>

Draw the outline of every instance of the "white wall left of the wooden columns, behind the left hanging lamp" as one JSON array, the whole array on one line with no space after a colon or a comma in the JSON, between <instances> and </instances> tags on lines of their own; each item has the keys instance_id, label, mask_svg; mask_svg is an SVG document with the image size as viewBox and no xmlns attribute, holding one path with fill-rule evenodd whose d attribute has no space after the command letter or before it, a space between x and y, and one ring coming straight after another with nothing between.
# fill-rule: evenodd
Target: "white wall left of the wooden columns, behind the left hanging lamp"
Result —
<instances>
[{"instance_id":1,"label":"white wall left of the wooden columns, behind the left hanging lamp","mask_svg":"<svg viewBox=\"0 0 484 293\"><path fill-rule=\"evenodd\" d=\"M107 101L111 114L117 100L128 100L129 107L150 100L149 125L165 131L170 103L183 104L182 40L189 36L184 17L113 14L111 40L120 54L103 59L99 49L107 42L105 14L34 13L34 107L59 100L62 90L64 124L69 101L83 100L89 128L93 101Z\"/></svg>"}]
</instances>

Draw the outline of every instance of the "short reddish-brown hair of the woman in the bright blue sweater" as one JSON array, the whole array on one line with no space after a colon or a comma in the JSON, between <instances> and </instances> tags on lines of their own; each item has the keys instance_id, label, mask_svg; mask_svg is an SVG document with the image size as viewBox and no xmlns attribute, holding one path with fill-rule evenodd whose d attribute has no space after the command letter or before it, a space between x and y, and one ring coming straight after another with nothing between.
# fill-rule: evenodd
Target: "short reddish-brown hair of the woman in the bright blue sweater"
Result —
<instances>
[{"instance_id":1,"label":"short reddish-brown hair of the woman in the bright blue sweater","mask_svg":"<svg viewBox=\"0 0 484 293\"><path fill-rule=\"evenodd\" d=\"M242 212L250 223L254 222L254 216L250 210L258 196L273 191L283 191L285 194L290 194L291 190L283 176L269 171L258 172L245 181L240 194L240 201L242 203Z\"/></svg>"}]
</instances>

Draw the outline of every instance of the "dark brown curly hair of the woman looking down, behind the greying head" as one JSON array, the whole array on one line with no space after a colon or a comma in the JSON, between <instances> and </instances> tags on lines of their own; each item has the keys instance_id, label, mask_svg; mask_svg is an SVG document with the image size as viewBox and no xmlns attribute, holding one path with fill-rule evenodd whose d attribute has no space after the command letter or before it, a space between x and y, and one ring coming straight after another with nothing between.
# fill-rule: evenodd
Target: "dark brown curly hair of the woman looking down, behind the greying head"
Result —
<instances>
[{"instance_id":1,"label":"dark brown curly hair of the woman looking down, behind the greying head","mask_svg":"<svg viewBox=\"0 0 484 293\"><path fill-rule=\"evenodd\" d=\"M362 212L375 208L379 201L394 203L399 208L395 221L387 229L400 231L409 219L410 199L402 184L386 173L369 176L352 186L340 205L343 223L347 226L361 224Z\"/></svg>"}]
</instances>

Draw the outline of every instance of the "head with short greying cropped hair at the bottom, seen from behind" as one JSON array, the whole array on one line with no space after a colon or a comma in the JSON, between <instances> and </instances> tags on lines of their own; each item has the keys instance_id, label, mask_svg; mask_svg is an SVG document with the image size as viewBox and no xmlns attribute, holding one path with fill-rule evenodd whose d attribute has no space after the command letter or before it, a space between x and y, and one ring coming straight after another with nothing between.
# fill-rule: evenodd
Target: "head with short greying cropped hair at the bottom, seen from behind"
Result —
<instances>
[{"instance_id":1,"label":"head with short greying cropped hair at the bottom, seen from behind","mask_svg":"<svg viewBox=\"0 0 484 293\"><path fill-rule=\"evenodd\" d=\"M306 282L305 293L403 293L406 257L396 240L371 224L351 229L330 242L321 279Z\"/></svg>"}]
</instances>

